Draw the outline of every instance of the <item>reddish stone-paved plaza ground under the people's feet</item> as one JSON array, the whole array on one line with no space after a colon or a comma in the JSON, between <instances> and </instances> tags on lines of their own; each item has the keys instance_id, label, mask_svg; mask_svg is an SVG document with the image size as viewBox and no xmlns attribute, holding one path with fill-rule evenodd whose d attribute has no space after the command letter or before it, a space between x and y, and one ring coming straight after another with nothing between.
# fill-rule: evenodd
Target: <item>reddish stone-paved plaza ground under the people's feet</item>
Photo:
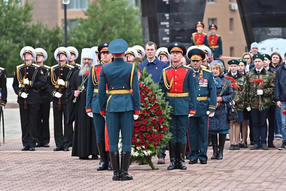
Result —
<instances>
[{"instance_id":1,"label":"reddish stone-paved plaza ground under the people's feet","mask_svg":"<svg viewBox=\"0 0 286 191\"><path fill-rule=\"evenodd\" d=\"M99 161L78 160L69 152L54 152L52 109L50 148L20 151L19 109L5 109L5 144L0 147L0 190L286 190L286 151L241 149L229 151L223 160L208 160L207 165L189 165L188 170L167 170L165 165L151 170L148 165L132 164L131 181L112 181L112 172L96 171ZM2 123L2 122L1 122ZM248 140L249 142L249 140ZM278 147L282 141L275 140ZM209 147L208 157L212 155Z\"/></svg>"}]
</instances>

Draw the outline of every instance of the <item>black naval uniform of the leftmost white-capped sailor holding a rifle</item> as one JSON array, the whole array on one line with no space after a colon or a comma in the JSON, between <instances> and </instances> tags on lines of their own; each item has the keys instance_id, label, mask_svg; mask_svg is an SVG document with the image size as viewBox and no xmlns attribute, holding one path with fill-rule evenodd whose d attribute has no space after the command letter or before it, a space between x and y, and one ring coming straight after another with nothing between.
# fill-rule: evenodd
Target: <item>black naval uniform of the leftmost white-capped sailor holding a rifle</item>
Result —
<instances>
[{"instance_id":1,"label":"black naval uniform of the leftmost white-capped sailor holding a rifle","mask_svg":"<svg viewBox=\"0 0 286 191\"><path fill-rule=\"evenodd\" d=\"M29 80L29 86L27 93L28 97L26 98L28 108L25 109L25 99L21 97L21 94L25 92L25 85L23 84L24 69L25 64L17 66L12 86L15 93L18 95L17 103L19 104L20 108L23 146L36 147L37 113L40 103L39 91L45 86L46 82L42 68L33 63L27 65L27 78Z\"/></svg>"}]
</instances>

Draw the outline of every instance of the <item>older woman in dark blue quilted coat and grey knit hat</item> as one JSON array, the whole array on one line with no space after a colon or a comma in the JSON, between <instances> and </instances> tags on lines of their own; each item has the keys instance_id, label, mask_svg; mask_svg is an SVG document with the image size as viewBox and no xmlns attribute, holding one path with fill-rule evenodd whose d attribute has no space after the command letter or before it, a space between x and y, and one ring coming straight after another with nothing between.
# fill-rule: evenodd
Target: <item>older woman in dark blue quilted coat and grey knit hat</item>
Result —
<instances>
[{"instance_id":1,"label":"older woman in dark blue quilted coat and grey knit hat","mask_svg":"<svg viewBox=\"0 0 286 191\"><path fill-rule=\"evenodd\" d=\"M229 133L230 121L228 120L229 96L233 99L234 93L229 85L221 94L223 86L226 85L224 77L224 66L221 61L214 60L210 63L210 70L213 72L217 90L217 109L213 117L209 118L208 133L211 135L213 155L211 159L221 160L223 148L226 142L226 134ZM221 94L221 96L219 96ZM218 134L218 139L217 139ZM219 150L218 150L219 149Z\"/></svg>"}]
</instances>

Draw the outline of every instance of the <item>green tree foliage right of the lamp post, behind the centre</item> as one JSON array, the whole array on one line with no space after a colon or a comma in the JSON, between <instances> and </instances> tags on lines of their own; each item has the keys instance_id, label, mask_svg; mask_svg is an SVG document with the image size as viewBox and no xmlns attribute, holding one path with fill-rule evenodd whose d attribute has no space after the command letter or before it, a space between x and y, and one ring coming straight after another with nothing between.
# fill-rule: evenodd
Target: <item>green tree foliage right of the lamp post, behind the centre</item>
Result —
<instances>
[{"instance_id":1,"label":"green tree foliage right of the lamp post, behind the centre","mask_svg":"<svg viewBox=\"0 0 286 191\"><path fill-rule=\"evenodd\" d=\"M79 19L78 24L69 32L69 46L81 51L83 48L98 46L116 38L143 45L140 10L128 5L127 0L99 0L87 8L87 19Z\"/></svg>"}]
</instances>

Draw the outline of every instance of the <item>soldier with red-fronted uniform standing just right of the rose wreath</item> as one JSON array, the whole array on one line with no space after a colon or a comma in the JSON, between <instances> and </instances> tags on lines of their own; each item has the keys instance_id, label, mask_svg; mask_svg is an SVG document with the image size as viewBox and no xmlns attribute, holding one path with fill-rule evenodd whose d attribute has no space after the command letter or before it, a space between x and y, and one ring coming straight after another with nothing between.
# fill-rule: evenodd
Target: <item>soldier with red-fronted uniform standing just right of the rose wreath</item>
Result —
<instances>
[{"instance_id":1,"label":"soldier with red-fronted uniform standing just right of the rose wreath","mask_svg":"<svg viewBox=\"0 0 286 191\"><path fill-rule=\"evenodd\" d=\"M186 132L189 117L194 116L197 107L196 83L193 69L184 66L181 58L186 54L186 48L179 42L168 46L172 65L163 69L160 77L160 86L165 94L166 101L173 107L170 129L173 138L169 142L170 165L168 170L186 170Z\"/></svg>"}]
</instances>

